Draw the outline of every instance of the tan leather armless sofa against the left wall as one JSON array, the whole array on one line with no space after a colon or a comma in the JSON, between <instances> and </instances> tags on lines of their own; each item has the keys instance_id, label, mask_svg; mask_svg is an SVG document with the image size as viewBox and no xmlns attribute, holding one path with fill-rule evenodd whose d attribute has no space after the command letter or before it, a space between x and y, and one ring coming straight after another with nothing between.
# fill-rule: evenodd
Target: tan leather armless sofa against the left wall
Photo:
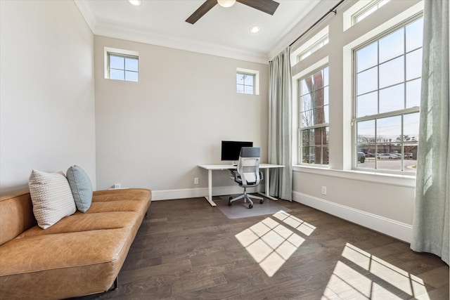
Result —
<instances>
[{"instance_id":1,"label":"tan leather armless sofa against the left wall","mask_svg":"<svg viewBox=\"0 0 450 300\"><path fill-rule=\"evenodd\" d=\"M115 283L150 207L146 189L94 192L50 228L37 226L30 193L0 197L0 299L62 299Z\"/></svg>"}]
</instances>

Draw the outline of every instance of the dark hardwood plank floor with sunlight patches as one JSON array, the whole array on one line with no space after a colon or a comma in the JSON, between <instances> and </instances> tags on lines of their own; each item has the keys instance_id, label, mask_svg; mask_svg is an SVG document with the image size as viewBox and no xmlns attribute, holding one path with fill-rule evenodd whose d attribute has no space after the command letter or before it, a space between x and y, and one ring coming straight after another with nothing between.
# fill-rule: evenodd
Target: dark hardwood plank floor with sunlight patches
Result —
<instances>
[{"instance_id":1,"label":"dark hardwood plank floor with sunlight patches","mask_svg":"<svg viewBox=\"0 0 450 300\"><path fill-rule=\"evenodd\" d=\"M203 197L153 201L119 288L82 299L449 299L439 257L278 203L292 211L227 219Z\"/></svg>"}]
</instances>

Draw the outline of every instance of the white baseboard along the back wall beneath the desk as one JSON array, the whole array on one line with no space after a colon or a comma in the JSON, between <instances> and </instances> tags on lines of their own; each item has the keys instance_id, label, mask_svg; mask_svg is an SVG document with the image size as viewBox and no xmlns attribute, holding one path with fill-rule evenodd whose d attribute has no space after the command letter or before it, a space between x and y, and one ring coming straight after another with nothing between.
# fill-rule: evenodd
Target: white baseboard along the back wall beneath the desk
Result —
<instances>
[{"instance_id":1,"label":"white baseboard along the back wall beneath the desk","mask_svg":"<svg viewBox=\"0 0 450 300\"><path fill-rule=\"evenodd\" d=\"M258 185L257 188L248 188L248 193L256 193L264 190L264 185ZM234 195L243 193L243 188L239 185L219 186L212 188L212 195ZM152 201L184 199L194 197L205 197L208 195L208 188L180 188L177 190L152 190Z\"/></svg>"}]
</instances>

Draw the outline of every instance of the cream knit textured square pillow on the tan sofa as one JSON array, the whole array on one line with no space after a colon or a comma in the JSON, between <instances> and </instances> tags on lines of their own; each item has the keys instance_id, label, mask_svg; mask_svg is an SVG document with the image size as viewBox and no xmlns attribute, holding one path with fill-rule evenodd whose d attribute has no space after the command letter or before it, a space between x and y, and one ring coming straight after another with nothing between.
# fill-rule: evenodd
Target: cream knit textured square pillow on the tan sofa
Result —
<instances>
[{"instance_id":1,"label":"cream knit textured square pillow on the tan sofa","mask_svg":"<svg viewBox=\"0 0 450 300\"><path fill-rule=\"evenodd\" d=\"M63 174L33 170L28 185L39 227L49 228L77 211L70 185Z\"/></svg>"}]
</instances>

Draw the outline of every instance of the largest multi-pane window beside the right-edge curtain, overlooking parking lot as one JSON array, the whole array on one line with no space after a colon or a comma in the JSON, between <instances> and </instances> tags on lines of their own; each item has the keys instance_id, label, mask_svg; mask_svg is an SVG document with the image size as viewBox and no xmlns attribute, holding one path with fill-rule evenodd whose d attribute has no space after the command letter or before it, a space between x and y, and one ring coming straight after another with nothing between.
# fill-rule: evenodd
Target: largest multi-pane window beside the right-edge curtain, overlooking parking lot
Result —
<instances>
[{"instance_id":1,"label":"largest multi-pane window beside the right-edge curtain, overlooking parking lot","mask_svg":"<svg viewBox=\"0 0 450 300\"><path fill-rule=\"evenodd\" d=\"M422 28L416 17L354 51L356 167L416 171Z\"/></svg>"}]
</instances>

